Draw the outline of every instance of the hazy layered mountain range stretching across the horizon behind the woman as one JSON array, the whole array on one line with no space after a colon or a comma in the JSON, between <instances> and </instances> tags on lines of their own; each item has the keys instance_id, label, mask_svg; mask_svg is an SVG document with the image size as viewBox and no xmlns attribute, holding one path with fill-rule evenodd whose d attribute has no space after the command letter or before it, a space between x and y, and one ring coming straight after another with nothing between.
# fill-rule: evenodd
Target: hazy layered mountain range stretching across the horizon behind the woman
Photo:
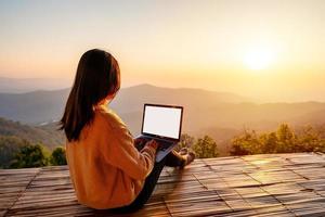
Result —
<instances>
[{"instance_id":1,"label":"hazy layered mountain range stretching across the horizon behind the woman","mask_svg":"<svg viewBox=\"0 0 325 217\"><path fill-rule=\"evenodd\" d=\"M0 93L0 116L28 124L47 125L60 119L69 89ZM281 123L295 126L325 123L325 103L256 103L235 93L192 88L140 85L122 88L110 103L133 135L141 128L144 103L184 106L183 132L210 135L226 140L244 128L274 130Z\"/></svg>"}]
</instances>

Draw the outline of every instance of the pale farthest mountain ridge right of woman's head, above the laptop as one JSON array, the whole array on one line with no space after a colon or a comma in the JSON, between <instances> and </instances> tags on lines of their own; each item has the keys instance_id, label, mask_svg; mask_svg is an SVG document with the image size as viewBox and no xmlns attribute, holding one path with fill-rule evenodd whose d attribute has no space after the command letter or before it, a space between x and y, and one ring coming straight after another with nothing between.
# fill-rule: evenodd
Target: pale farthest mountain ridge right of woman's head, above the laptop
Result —
<instances>
[{"instance_id":1,"label":"pale farthest mountain ridge right of woman's head, above the laptop","mask_svg":"<svg viewBox=\"0 0 325 217\"><path fill-rule=\"evenodd\" d=\"M181 104L183 106L216 105L219 103L249 102L251 99L230 92L217 92L194 88L165 88L139 85L122 89L112 102L120 113L139 111L144 103ZM196 104L196 105L195 105Z\"/></svg>"}]
</instances>

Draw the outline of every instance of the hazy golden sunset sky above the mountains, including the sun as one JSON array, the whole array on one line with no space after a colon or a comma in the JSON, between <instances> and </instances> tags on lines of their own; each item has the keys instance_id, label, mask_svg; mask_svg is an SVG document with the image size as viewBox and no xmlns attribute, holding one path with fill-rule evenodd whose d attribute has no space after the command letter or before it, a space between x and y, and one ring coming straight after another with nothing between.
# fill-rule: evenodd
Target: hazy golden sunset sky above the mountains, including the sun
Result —
<instances>
[{"instance_id":1,"label":"hazy golden sunset sky above the mountains, including the sun","mask_svg":"<svg viewBox=\"0 0 325 217\"><path fill-rule=\"evenodd\" d=\"M69 85L88 49L122 86L150 82L266 101L325 101L325 1L0 1L0 76Z\"/></svg>"}]
</instances>

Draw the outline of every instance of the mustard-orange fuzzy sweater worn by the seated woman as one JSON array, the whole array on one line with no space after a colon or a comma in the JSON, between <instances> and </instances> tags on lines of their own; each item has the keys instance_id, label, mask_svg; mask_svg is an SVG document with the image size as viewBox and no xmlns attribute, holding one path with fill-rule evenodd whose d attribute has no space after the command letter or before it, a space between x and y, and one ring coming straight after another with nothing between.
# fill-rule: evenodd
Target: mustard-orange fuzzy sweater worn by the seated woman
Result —
<instances>
[{"instance_id":1,"label":"mustard-orange fuzzy sweater worn by the seated woman","mask_svg":"<svg viewBox=\"0 0 325 217\"><path fill-rule=\"evenodd\" d=\"M112 110L98 106L79 140L66 144L79 203L98 209L130 204L153 168L155 152L152 146L139 152L122 120Z\"/></svg>"}]
</instances>

